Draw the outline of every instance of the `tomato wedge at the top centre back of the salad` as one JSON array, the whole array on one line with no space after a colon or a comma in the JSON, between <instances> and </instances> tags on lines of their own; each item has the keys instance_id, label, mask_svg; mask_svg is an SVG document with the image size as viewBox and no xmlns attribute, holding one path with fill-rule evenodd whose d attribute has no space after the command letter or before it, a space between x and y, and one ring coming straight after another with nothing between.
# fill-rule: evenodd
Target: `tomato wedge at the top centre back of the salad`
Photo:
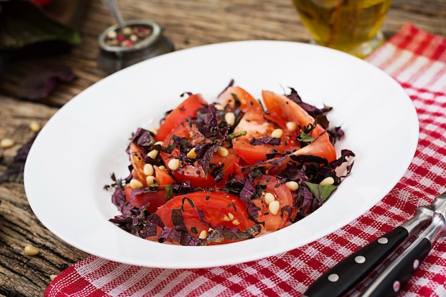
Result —
<instances>
[{"instance_id":1,"label":"tomato wedge at the top centre back of the salad","mask_svg":"<svg viewBox=\"0 0 446 297\"><path fill-rule=\"evenodd\" d=\"M240 100L240 110L242 110L243 112L246 113L249 110L262 110L259 101L252 97L252 95L249 94L246 90L238 86L228 87L226 90L224 90L224 92L221 93L217 98L217 103L223 106L228 105L231 109L234 109L234 96L236 96Z\"/></svg>"}]
</instances>

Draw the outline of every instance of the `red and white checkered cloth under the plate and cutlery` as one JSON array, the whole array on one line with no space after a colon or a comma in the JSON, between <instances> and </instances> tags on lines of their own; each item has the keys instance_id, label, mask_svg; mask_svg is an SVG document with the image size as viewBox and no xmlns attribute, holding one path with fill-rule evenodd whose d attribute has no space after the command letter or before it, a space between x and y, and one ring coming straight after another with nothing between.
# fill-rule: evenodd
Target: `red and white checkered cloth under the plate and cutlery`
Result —
<instances>
[{"instance_id":1,"label":"red and white checkered cloth under the plate and cutlery","mask_svg":"<svg viewBox=\"0 0 446 297\"><path fill-rule=\"evenodd\" d=\"M369 212L299 249L233 266L157 269L89 256L62 271L45 296L301 296L321 273L430 204L446 189L446 38L406 24L367 60L405 88L420 121L413 162ZM446 296L446 239L401 296Z\"/></svg>"}]
</instances>

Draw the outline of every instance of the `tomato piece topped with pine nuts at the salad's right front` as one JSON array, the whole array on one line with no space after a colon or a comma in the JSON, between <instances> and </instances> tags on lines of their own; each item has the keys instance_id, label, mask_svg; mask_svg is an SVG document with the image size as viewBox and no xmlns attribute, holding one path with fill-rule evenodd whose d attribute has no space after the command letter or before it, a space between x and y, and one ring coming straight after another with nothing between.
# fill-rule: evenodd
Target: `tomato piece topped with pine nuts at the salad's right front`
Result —
<instances>
[{"instance_id":1,"label":"tomato piece topped with pine nuts at the salad's right front","mask_svg":"<svg viewBox=\"0 0 446 297\"><path fill-rule=\"evenodd\" d=\"M257 221L264 222L266 231L276 231L283 228L289 222L291 214L288 211L282 212L281 209L286 206L291 209L293 206L293 196L290 189L285 184L282 184L280 179L269 175L262 175L256 178L254 184L266 186L261 197L252 200L260 208ZM274 196L275 202L269 202L268 198L265 198L267 196L271 197L269 194ZM278 212L275 214L271 212L271 203L277 204L279 207Z\"/></svg>"}]
</instances>

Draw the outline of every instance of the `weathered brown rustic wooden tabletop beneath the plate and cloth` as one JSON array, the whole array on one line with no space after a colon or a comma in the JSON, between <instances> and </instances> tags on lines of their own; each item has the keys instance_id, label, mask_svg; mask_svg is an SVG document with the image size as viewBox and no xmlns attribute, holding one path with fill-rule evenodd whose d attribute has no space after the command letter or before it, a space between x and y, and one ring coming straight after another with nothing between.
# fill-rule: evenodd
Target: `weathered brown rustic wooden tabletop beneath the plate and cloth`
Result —
<instances>
[{"instance_id":1,"label":"weathered brown rustic wooden tabletop beneath the plate and cloth","mask_svg":"<svg viewBox=\"0 0 446 297\"><path fill-rule=\"evenodd\" d=\"M153 19L165 28L175 48L248 39L308 42L291 0L145 0L118 1L125 19ZM410 21L431 33L446 36L446 1L394 0L383 25L392 36ZM0 148L0 174L16 151L33 137L29 123L44 125L58 108L107 73L97 67L97 38L114 23L99 0L90 1L81 24L83 41L70 53L14 61L0 81L0 140L11 138L13 147ZM76 80L59 85L44 103L16 98L24 75L37 66L61 65L76 73ZM51 274L85 259L88 254L74 249L51 234L33 215L21 183L0 184L0 296L42 296ZM40 253L26 256L24 246L33 244Z\"/></svg>"}]
</instances>

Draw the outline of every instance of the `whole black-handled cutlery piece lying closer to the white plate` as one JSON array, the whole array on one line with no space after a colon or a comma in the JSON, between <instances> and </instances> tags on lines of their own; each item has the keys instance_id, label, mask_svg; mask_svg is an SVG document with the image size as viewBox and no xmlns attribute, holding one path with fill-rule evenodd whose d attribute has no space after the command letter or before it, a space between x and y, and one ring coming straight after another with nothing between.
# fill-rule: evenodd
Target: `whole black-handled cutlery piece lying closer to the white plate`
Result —
<instances>
[{"instance_id":1,"label":"whole black-handled cutlery piece lying closer to the white plate","mask_svg":"<svg viewBox=\"0 0 446 297\"><path fill-rule=\"evenodd\" d=\"M418 207L411 219L363 246L323 273L308 287L302 297L343 296L376 269L384 259L403 244L405 239L426 226L432 220L434 209L445 203L446 192L436 197L430 206Z\"/></svg>"}]
</instances>

